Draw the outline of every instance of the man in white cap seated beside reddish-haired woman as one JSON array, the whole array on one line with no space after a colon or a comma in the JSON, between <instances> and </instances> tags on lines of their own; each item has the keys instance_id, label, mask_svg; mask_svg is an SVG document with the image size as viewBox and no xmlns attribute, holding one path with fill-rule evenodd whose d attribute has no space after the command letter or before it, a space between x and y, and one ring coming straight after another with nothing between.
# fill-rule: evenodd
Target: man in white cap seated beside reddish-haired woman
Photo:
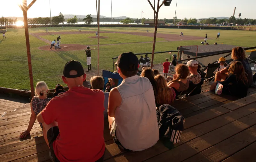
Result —
<instances>
[{"instance_id":1,"label":"man in white cap seated beside reddish-haired woman","mask_svg":"<svg viewBox=\"0 0 256 162\"><path fill-rule=\"evenodd\" d=\"M197 72L198 62L196 60L189 60L187 62L190 75L187 77L189 81L192 81L194 84L201 82L202 77Z\"/></svg>"}]
</instances>

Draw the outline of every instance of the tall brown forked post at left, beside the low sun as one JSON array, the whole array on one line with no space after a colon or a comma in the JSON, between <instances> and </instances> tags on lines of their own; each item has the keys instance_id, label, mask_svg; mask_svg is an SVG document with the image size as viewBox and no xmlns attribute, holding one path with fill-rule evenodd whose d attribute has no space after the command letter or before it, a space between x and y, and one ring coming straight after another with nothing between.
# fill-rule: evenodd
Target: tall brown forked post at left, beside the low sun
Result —
<instances>
[{"instance_id":1,"label":"tall brown forked post at left, beside the low sun","mask_svg":"<svg viewBox=\"0 0 256 162\"><path fill-rule=\"evenodd\" d=\"M35 2L32 1L33 3ZM32 6L29 5L29 7ZM24 28L25 28L25 37L26 37L26 45L27 45L27 57L28 57L28 72L29 72L29 82L30 82L30 90L31 90L31 95L30 97L32 98L35 96L35 91L34 91L34 81L33 81L33 71L32 71L32 62L31 62L31 53L30 53L30 43L29 43L29 33L28 33L28 7L27 7L27 0L23 0L22 6L20 6L21 10L23 11L23 18L24 18Z\"/></svg>"}]
</instances>

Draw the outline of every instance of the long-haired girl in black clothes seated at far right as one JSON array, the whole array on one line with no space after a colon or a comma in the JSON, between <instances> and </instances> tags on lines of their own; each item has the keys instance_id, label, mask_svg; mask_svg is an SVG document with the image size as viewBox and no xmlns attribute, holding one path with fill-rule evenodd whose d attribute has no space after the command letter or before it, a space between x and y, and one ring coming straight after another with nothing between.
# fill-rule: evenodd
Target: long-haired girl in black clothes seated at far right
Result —
<instances>
[{"instance_id":1,"label":"long-haired girl in black clothes seated at far right","mask_svg":"<svg viewBox=\"0 0 256 162\"><path fill-rule=\"evenodd\" d=\"M247 95L249 84L248 74L245 73L242 62L233 61L228 70L228 78L224 81L212 83L210 90L214 90L217 83L220 83L223 85L222 93L234 95L238 98L245 97Z\"/></svg>"}]
</instances>

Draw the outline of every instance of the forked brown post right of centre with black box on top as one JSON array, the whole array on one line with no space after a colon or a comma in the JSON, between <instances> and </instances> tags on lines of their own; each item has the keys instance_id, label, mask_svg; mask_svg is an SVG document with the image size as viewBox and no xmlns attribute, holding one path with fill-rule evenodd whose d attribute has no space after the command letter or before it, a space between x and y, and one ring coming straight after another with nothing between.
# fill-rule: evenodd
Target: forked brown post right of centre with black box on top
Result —
<instances>
[{"instance_id":1,"label":"forked brown post right of centre with black box on top","mask_svg":"<svg viewBox=\"0 0 256 162\"><path fill-rule=\"evenodd\" d=\"M153 68L153 63L154 63L154 54L155 54L155 46L156 46L156 31L157 31L157 25L158 25L158 12L159 9L162 7L162 5L164 4L164 6L170 6L172 0L163 0L162 4L159 5L160 0L157 0L157 6L153 7L153 5L151 4L150 0L148 0L148 3L150 4L151 8L154 11L154 18L155 19L155 32L154 32L154 41L153 41L153 49L152 49L152 58L151 58L151 68ZM155 0L154 0L155 3Z\"/></svg>"}]
</instances>

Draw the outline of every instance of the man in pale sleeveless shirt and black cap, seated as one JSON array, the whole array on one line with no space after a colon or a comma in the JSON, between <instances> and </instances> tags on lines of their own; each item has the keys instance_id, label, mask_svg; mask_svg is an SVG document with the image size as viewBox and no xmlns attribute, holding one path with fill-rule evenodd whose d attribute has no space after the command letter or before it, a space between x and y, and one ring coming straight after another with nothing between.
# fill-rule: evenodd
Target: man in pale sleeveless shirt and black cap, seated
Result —
<instances>
[{"instance_id":1,"label":"man in pale sleeveless shirt and black cap, seated","mask_svg":"<svg viewBox=\"0 0 256 162\"><path fill-rule=\"evenodd\" d=\"M136 75L139 60L132 52L118 56L117 71L124 79L111 89L108 121L115 143L124 150L141 151L159 139L156 104L148 78Z\"/></svg>"}]
</instances>

